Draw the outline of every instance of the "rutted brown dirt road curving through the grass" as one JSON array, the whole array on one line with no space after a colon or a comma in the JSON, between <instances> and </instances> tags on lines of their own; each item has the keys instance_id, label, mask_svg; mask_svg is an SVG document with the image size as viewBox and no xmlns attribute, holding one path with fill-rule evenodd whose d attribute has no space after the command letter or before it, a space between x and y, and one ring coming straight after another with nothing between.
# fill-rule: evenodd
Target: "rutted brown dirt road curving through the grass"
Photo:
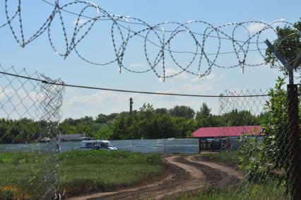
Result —
<instances>
[{"instance_id":1,"label":"rutted brown dirt road curving through the grass","mask_svg":"<svg viewBox=\"0 0 301 200\"><path fill-rule=\"evenodd\" d=\"M162 180L114 192L76 196L83 199L162 199L184 191L196 191L206 185L230 186L242 180L242 172L218 163L202 160L198 155L173 155L165 159L167 175Z\"/></svg>"}]
</instances>

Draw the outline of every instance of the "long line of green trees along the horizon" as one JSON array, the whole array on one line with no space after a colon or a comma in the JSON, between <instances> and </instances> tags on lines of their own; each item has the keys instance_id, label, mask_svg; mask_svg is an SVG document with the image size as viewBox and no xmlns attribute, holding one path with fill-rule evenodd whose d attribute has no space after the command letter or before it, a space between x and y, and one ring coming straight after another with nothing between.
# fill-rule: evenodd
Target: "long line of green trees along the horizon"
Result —
<instances>
[{"instance_id":1,"label":"long line of green trees along the horizon","mask_svg":"<svg viewBox=\"0 0 301 200\"><path fill-rule=\"evenodd\" d=\"M98 117L64 119L57 124L35 122L32 119L0 119L0 143L35 142L42 137L61 134L84 134L95 139L165 139L187 138L200 127L243 126L259 124L263 115L247 110L232 110L225 114L212 114L203 102L195 112L191 107L177 105L172 109L154 109L144 104L133 112L98 114Z\"/></svg>"}]
</instances>

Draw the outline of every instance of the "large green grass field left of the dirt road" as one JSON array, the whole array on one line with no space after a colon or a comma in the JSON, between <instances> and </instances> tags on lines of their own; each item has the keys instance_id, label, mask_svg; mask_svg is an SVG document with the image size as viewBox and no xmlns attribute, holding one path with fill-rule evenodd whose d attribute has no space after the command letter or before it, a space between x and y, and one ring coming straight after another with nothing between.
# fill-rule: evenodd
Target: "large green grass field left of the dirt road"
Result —
<instances>
[{"instance_id":1,"label":"large green grass field left of the dirt road","mask_svg":"<svg viewBox=\"0 0 301 200\"><path fill-rule=\"evenodd\" d=\"M67 196L110 191L162 173L160 156L153 153L0 153L0 199L39 199L54 188Z\"/></svg>"}]
</instances>

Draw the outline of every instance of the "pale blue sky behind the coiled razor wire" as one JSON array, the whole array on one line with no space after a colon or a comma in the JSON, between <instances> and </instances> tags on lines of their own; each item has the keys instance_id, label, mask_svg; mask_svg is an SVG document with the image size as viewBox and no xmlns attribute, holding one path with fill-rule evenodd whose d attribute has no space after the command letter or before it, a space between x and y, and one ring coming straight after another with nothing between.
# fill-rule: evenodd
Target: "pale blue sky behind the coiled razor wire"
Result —
<instances>
[{"instance_id":1,"label":"pale blue sky behind the coiled razor wire","mask_svg":"<svg viewBox=\"0 0 301 200\"><path fill-rule=\"evenodd\" d=\"M61 1L63 2L63 1ZM285 20L291 23L299 20L301 1L93 1L98 6L111 14L132 16L155 25L165 21L184 23L189 20L203 20L214 26L224 23L243 22L247 20L260 20L271 23L276 20ZM1 3L4 4L4 3ZM4 5L0 6L0 24L4 23ZM14 11L16 5L11 4L9 11ZM69 8L78 11L76 6ZM40 0L23 2L23 23L25 35L30 35L42 23L52 7ZM90 11L89 14L93 14ZM65 24L68 30L74 28L76 18L64 13ZM57 19L56 19L57 20ZM58 21L58 20L57 20ZM17 23L13 23L18 25ZM165 28L169 28L166 26ZM248 26L247 28L255 28ZM52 26L54 43L60 49L64 48L61 30L57 24ZM71 33L71 32L70 32ZM266 37L273 38L273 35ZM237 32L237 37L245 38L243 32ZM109 66L94 66L79 59L75 52L71 52L67 59L59 57L53 51L47 40L47 32L25 48L18 46L8 26L0 29L0 63L4 67L11 65L16 69L27 69L29 72L40 71L51 78L61 78L66 83L84 86L96 86L102 88L120 88L125 90L146 90L172 93L190 93L199 95L219 95L224 90L266 90L275 83L275 79L281 76L276 69L266 66L247 67L244 73L240 68L219 69L213 67L211 74L196 78L188 73L182 73L175 78L169 78L162 82L153 72L119 73L116 63ZM151 36L155 40L154 36ZM261 38L262 39L262 38ZM178 37L173 43L175 49L193 51L195 46L191 45L189 37ZM215 40L208 40L206 44L208 51L214 52ZM229 47L229 49L228 49ZM78 45L78 51L93 61L105 61L114 58L112 52L112 41L110 37L110 25L100 23L93 27L90 35ZM229 45L223 46L223 51L232 51ZM151 57L158 51L155 47L148 49ZM180 62L185 63L189 55L177 55ZM220 57L219 64L231 64L234 61L231 56ZM251 59L260 59L259 54L253 53ZM143 52L143 40L135 39L129 43L124 57L126 66L145 69L146 59ZM177 71L177 66L170 59L166 60L168 73ZM83 90L67 88L62 111L65 117L84 117L85 115L95 117L99 113L109 114L129 110L129 98L134 98L134 109L138 109L143 102L149 102L154 107L174 107L175 105L188 105L198 110L202 102L207 102L218 113L218 101L212 98L180 98L162 97L158 95L138 95L113 93L107 91Z\"/></svg>"}]
</instances>

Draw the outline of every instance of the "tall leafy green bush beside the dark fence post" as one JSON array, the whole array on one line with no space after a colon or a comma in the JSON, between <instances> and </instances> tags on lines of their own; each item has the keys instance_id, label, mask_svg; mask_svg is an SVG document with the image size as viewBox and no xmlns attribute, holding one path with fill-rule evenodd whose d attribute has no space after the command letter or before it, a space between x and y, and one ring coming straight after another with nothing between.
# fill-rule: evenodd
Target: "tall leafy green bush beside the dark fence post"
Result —
<instances>
[{"instance_id":1,"label":"tall leafy green bush beside the dark fence post","mask_svg":"<svg viewBox=\"0 0 301 200\"><path fill-rule=\"evenodd\" d=\"M266 102L265 114L261 116L261 128L264 130L262 141L243 138L241 155L242 167L247 170L249 180L278 180L288 189L290 148L288 101L284 84L285 79L278 78L275 88L268 92L270 99Z\"/></svg>"}]
</instances>

